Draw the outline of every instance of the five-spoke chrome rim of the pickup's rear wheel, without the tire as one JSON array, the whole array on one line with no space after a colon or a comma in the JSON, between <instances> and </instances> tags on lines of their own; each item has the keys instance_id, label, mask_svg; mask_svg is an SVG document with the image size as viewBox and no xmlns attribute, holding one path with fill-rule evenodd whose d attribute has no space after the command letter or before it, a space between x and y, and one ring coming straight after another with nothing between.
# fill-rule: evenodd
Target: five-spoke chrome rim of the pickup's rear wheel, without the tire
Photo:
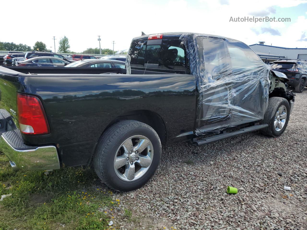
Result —
<instances>
[{"instance_id":1,"label":"five-spoke chrome rim of the pickup's rear wheel, without the tire","mask_svg":"<svg viewBox=\"0 0 307 230\"><path fill-rule=\"evenodd\" d=\"M153 160L153 145L142 135L127 138L118 148L114 157L114 170L124 181L142 177Z\"/></svg>"}]
</instances>

